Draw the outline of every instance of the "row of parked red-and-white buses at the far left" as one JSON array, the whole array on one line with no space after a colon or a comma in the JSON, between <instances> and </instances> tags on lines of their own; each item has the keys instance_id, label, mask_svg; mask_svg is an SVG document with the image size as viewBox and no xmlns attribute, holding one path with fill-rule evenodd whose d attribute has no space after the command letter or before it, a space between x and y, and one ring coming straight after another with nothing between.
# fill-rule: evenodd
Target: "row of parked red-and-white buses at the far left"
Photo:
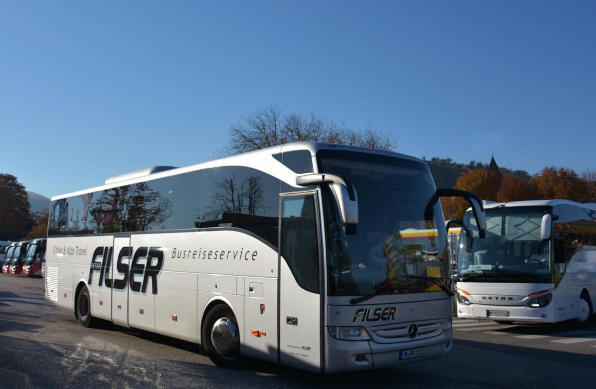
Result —
<instances>
[{"instance_id":1,"label":"row of parked red-and-white buses at the far left","mask_svg":"<svg viewBox=\"0 0 596 389\"><path fill-rule=\"evenodd\" d=\"M44 275L46 239L12 242L5 247L2 272L7 274Z\"/></svg>"}]
</instances>

